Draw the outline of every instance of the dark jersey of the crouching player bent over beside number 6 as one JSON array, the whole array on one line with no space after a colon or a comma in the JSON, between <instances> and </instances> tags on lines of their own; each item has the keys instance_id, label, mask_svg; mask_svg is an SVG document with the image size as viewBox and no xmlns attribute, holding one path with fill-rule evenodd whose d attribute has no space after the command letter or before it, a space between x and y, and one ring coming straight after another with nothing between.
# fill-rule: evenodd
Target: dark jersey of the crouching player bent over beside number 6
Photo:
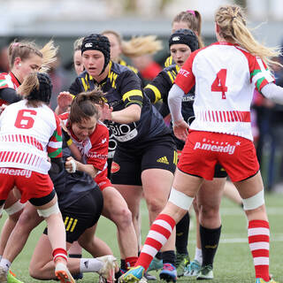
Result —
<instances>
[{"instance_id":1,"label":"dark jersey of the crouching player bent over beside number 6","mask_svg":"<svg viewBox=\"0 0 283 283\"><path fill-rule=\"evenodd\" d=\"M64 136L62 152L65 164L66 158L71 157L72 153L65 142ZM87 195L88 192L92 189L97 189L100 191L96 182L90 177L90 175L88 175L88 173L80 171L74 173L66 172L65 165L62 171L57 172L57 170L53 166L57 167L56 164L52 164L49 175L51 180L53 181L60 208L69 207L77 200L79 200L80 197Z\"/></svg>"}]
</instances>

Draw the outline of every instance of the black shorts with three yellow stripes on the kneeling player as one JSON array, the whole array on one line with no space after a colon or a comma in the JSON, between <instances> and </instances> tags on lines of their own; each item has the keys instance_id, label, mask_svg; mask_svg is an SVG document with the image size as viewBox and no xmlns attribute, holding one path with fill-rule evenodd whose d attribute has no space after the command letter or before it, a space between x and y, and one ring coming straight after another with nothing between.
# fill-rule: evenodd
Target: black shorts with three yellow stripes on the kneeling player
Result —
<instances>
[{"instance_id":1,"label":"black shorts with three yellow stripes on the kneeling player","mask_svg":"<svg viewBox=\"0 0 283 283\"><path fill-rule=\"evenodd\" d=\"M71 206L60 208L65 224L66 241L73 243L88 228L95 226L103 210L103 195L100 189L91 189ZM47 234L47 228L44 232Z\"/></svg>"}]
</instances>

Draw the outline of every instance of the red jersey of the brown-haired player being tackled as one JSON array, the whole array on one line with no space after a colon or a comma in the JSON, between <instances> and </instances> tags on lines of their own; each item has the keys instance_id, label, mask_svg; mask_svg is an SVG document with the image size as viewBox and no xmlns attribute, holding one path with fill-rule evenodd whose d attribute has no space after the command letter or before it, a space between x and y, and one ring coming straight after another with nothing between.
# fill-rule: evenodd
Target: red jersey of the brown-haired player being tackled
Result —
<instances>
[{"instance_id":1,"label":"red jersey of the brown-haired player being tackled","mask_svg":"<svg viewBox=\"0 0 283 283\"><path fill-rule=\"evenodd\" d=\"M64 122L68 120L69 113L59 115L59 118ZM97 170L97 174L107 170L109 130L101 121L97 121L94 133L90 134L84 141L79 141L71 130L73 143L80 150L82 162L84 164L92 164Z\"/></svg>"}]
</instances>

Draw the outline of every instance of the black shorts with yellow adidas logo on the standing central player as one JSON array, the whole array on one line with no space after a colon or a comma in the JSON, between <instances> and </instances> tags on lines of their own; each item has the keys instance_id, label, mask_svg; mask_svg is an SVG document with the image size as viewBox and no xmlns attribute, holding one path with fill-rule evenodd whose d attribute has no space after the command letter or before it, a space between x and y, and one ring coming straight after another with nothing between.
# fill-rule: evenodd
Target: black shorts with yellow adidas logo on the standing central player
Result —
<instances>
[{"instance_id":1,"label":"black shorts with yellow adidas logo on the standing central player","mask_svg":"<svg viewBox=\"0 0 283 283\"><path fill-rule=\"evenodd\" d=\"M134 150L118 147L111 165L111 183L142 186L142 171L158 168L174 173L177 162L174 142L148 142Z\"/></svg>"}]
</instances>

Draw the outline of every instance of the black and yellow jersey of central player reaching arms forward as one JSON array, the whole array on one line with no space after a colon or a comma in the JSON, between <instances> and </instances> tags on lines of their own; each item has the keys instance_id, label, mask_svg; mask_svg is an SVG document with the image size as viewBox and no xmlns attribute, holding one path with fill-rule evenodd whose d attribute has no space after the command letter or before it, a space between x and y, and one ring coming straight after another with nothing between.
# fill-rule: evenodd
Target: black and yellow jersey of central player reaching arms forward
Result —
<instances>
[{"instance_id":1,"label":"black and yellow jersey of central player reaching arms forward","mask_svg":"<svg viewBox=\"0 0 283 283\"><path fill-rule=\"evenodd\" d=\"M113 107L113 111L120 111L131 104L142 107L141 119L130 124L119 124L112 121L104 121L110 129L119 146L137 148L139 143L156 140L159 135L169 134L172 139L171 130L168 129L162 116L144 96L141 81L138 76L124 65L111 62L108 76L97 83L87 71L81 73L73 82L70 93L74 96L81 91L88 91L100 86L105 94L106 103Z\"/></svg>"}]
</instances>

